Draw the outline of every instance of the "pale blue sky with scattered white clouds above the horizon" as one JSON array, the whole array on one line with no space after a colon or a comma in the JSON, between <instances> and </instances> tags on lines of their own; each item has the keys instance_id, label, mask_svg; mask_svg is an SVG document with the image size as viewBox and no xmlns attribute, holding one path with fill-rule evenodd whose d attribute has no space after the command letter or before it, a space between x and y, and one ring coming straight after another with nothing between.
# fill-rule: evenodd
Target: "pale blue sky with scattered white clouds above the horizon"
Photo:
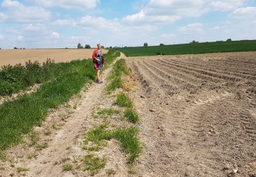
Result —
<instances>
[{"instance_id":1,"label":"pale blue sky with scattered white clouds above the horizon","mask_svg":"<svg viewBox=\"0 0 256 177\"><path fill-rule=\"evenodd\" d=\"M256 39L256 0L0 1L0 48Z\"/></svg>"}]
</instances>

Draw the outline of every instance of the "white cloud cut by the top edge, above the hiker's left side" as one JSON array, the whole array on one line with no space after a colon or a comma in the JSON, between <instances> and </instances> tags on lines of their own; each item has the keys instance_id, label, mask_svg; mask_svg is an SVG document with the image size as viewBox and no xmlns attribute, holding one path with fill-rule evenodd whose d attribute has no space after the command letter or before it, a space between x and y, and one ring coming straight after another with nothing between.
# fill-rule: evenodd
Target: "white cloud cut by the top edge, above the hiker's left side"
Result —
<instances>
[{"instance_id":1,"label":"white cloud cut by the top edge, above the hiker's left side","mask_svg":"<svg viewBox=\"0 0 256 177\"><path fill-rule=\"evenodd\" d=\"M66 9L88 10L96 7L100 0L36 0L44 7L63 7Z\"/></svg>"}]
</instances>

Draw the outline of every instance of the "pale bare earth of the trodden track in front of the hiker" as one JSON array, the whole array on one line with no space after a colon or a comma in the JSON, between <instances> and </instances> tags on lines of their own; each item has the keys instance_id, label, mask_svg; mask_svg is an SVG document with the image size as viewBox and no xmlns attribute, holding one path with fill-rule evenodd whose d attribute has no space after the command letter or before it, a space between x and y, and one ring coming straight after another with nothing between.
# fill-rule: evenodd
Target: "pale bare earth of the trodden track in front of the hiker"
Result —
<instances>
[{"instance_id":1,"label":"pale bare earth of the trodden track in front of the hiker","mask_svg":"<svg viewBox=\"0 0 256 177\"><path fill-rule=\"evenodd\" d=\"M83 135L105 122L93 117L96 110L118 109L113 105L115 97L107 96L104 90L110 71L111 67L104 71L103 84L85 86L79 95L52 110L41 127L25 135L23 143L10 148L7 161L0 161L0 176L91 176L83 170L83 157L92 153L83 150ZM122 116L111 116L109 127L130 125L121 122ZM106 166L94 176L129 176L127 157L116 140L109 140L106 147L93 153L106 158ZM68 164L72 165L70 171L64 167Z\"/></svg>"}]
</instances>

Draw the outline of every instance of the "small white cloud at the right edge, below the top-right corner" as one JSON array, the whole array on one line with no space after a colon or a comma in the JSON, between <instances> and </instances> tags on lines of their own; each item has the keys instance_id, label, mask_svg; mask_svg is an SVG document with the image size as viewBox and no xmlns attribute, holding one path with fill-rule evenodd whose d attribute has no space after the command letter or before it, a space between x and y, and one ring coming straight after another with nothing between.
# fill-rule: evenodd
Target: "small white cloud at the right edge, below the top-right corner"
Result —
<instances>
[{"instance_id":1,"label":"small white cloud at the right edge, below the top-right corner","mask_svg":"<svg viewBox=\"0 0 256 177\"><path fill-rule=\"evenodd\" d=\"M248 19L256 18L256 7L241 7L231 13L231 18Z\"/></svg>"}]
</instances>

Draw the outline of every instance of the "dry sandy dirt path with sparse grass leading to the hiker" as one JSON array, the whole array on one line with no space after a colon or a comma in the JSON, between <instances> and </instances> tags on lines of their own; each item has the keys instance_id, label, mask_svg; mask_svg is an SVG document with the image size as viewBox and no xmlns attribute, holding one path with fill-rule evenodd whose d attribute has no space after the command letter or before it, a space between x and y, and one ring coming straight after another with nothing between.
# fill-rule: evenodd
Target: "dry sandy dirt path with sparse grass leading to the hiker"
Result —
<instances>
[{"instance_id":1,"label":"dry sandy dirt path with sparse grass leading to the hiker","mask_svg":"<svg viewBox=\"0 0 256 177\"><path fill-rule=\"evenodd\" d=\"M121 57L124 57L124 54ZM8 150L10 161L1 163L0 176L89 176L88 172L63 172L62 162L75 161L76 157L85 154L81 144L83 133L99 124L98 120L91 118L91 112L96 106L108 105L111 101L111 98L104 96L106 77L111 68L104 71L102 84L93 84L81 93L81 99L74 98L68 103L68 107L75 106L75 109L63 106L54 110L42 127L35 128L35 132L41 134L38 144L47 142L46 147L38 151L20 144ZM49 129L51 135L46 135L45 132ZM119 169L118 175L128 175L127 169L123 170L126 168L126 157L119 146L116 146L115 141L111 141L108 149L100 152L100 155L109 155L108 158L112 161L107 167L111 168L111 164L114 164L115 168ZM17 168L23 168L24 172L17 172ZM102 175L106 176L106 172L98 174Z\"/></svg>"}]
</instances>

